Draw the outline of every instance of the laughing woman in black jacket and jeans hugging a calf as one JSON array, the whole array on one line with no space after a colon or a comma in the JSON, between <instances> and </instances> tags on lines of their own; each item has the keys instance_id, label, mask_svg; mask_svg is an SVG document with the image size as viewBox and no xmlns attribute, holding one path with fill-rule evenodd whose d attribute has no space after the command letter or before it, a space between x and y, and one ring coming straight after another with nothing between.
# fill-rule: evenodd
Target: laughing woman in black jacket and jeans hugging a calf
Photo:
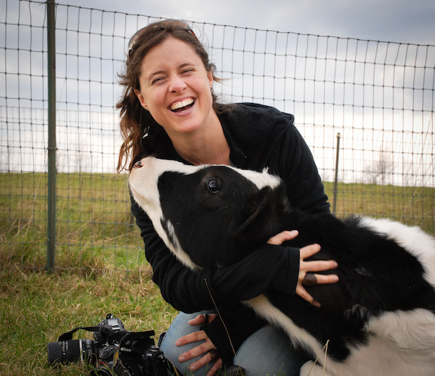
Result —
<instances>
[{"instance_id":1,"label":"laughing woman in black jacket and jeans hugging a calf","mask_svg":"<svg viewBox=\"0 0 435 376\"><path fill-rule=\"evenodd\" d=\"M268 167L283 178L294 206L328 212L319 173L293 126L293 116L261 105L218 104L214 72L208 54L185 22L156 22L132 37L121 75L123 97L117 105L124 140L118 170L126 168L128 160L131 170L147 155L193 165ZM246 368L247 375L298 375L304 357L285 335L240 302L276 289L317 304L304 289L304 278L307 281L312 272L337 266L333 261L304 262L320 250L318 245L300 250L281 247L297 236L297 231L284 231L239 264L193 272L164 246L133 199L132 211L153 281L163 298L181 311L161 349L182 375L194 371L194 375L211 376L233 361ZM335 275L314 276L317 283L337 281ZM220 316L212 314L216 307Z\"/></svg>"}]
</instances>

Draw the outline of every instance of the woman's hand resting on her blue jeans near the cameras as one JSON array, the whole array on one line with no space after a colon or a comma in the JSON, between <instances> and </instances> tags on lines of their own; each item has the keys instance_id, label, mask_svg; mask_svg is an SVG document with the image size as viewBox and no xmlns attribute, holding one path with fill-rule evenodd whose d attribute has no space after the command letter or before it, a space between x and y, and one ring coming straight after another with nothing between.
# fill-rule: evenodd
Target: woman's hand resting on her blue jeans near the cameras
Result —
<instances>
[{"instance_id":1,"label":"woman's hand resting on her blue jeans near the cameras","mask_svg":"<svg viewBox=\"0 0 435 376\"><path fill-rule=\"evenodd\" d=\"M207 319L209 322L213 321L216 318L216 314L210 314L207 315ZM193 320L189 321L190 325L201 325L206 322L206 316L201 314L196 316ZM198 346L194 347L192 350L189 350L183 354L181 354L178 357L178 360L180 362L189 361L192 358L195 358L196 356L203 356L196 362L192 363L189 366L189 370L194 371L198 368L201 368L203 365L206 365L210 361L214 361L212 367L207 372L206 376L213 376L222 366L222 358L220 357L219 352L217 351L215 345L213 342L211 342L210 338L206 335L206 333L203 330L199 330L198 332L190 333L188 335L185 335L184 337L181 337L175 344L177 346L183 346L185 344L189 344L192 342L197 341L206 341Z\"/></svg>"}]
</instances>

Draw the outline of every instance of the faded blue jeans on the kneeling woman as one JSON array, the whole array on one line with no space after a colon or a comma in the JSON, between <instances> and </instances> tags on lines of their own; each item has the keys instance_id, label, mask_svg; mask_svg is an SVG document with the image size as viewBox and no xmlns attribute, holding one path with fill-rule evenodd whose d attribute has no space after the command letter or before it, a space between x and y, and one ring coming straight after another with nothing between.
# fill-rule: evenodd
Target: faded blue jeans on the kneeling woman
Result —
<instances>
[{"instance_id":1,"label":"faded blue jeans on the kneeling woman","mask_svg":"<svg viewBox=\"0 0 435 376\"><path fill-rule=\"evenodd\" d=\"M189 365L199 358L183 363L178 361L178 356L198 346L199 342L181 347L175 346L175 341L180 337L199 330L199 326L189 325L187 321L205 312L178 314L161 343L163 354L181 372L181 375L203 376L210 369L209 363L194 372L189 371ZM306 361L307 359L294 349L288 337L271 325L261 328L248 337L234 357L234 364L245 368L246 376L297 376Z\"/></svg>"}]
</instances>

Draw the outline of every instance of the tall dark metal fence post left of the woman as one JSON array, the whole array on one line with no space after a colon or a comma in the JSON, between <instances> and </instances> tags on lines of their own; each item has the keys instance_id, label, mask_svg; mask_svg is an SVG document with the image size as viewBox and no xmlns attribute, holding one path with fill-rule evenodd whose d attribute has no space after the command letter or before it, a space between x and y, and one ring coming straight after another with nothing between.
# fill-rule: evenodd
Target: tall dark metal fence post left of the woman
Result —
<instances>
[{"instance_id":1,"label":"tall dark metal fence post left of the woman","mask_svg":"<svg viewBox=\"0 0 435 376\"><path fill-rule=\"evenodd\" d=\"M48 212L47 266L55 267L56 252L56 39L55 3L47 0L47 60L48 60Z\"/></svg>"}]
</instances>

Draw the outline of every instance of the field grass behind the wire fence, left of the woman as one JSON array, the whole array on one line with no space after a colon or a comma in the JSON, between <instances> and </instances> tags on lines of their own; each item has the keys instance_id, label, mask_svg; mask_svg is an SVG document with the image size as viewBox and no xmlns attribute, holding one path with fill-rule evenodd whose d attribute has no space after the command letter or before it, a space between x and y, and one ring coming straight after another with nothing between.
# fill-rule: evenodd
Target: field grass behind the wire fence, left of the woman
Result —
<instances>
[{"instance_id":1,"label":"field grass behind the wire fence, left of the woman","mask_svg":"<svg viewBox=\"0 0 435 376\"><path fill-rule=\"evenodd\" d=\"M56 267L83 269L95 258L115 269L146 264L125 175L59 174L57 185ZM1 241L22 267L46 264L46 208L45 174L0 174Z\"/></svg>"}]
</instances>

